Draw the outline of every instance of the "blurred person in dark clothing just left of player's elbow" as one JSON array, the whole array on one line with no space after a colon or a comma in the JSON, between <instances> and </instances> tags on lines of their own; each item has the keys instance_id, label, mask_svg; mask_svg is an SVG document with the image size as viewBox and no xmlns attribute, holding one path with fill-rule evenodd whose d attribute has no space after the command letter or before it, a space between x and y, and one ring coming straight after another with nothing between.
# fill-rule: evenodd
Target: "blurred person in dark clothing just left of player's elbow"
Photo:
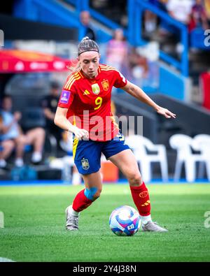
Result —
<instances>
[{"instance_id":1,"label":"blurred person in dark clothing just left of player's elbow","mask_svg":"<svg viewBox=\"0 0 210 276\"><path fill-rule=\"evenodd\" d=\"M50 94L45 96L45 98L41 102L41 106L43 107L43 113L46 118L46 129L48 133L55 136L57 140L57 145L59 141L62 139L62 129L54 124L55 112L57 109L57 103L59 101L60 94L60 85L58 82L50 83Z\"/></svg>"}]
</instances>

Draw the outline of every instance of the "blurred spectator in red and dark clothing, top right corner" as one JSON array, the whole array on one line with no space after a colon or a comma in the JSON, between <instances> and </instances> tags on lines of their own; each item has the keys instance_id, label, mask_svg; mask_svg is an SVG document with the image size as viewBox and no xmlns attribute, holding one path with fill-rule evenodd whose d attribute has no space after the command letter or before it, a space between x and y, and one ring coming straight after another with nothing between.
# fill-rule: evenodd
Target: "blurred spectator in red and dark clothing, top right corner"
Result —
<instances>
[{"instance_id":1,"label":"blurred spectator in red and dark clothing, top right corner","mask_svg":"<svg viewBox=\"0 0 210 276\"><path fill-rule=\"evenodd\" d=\"M203 0L195 0L195 4L191 10L189 31L193 31L195 28L209 28Z\"/></svg>"}]
</instances>

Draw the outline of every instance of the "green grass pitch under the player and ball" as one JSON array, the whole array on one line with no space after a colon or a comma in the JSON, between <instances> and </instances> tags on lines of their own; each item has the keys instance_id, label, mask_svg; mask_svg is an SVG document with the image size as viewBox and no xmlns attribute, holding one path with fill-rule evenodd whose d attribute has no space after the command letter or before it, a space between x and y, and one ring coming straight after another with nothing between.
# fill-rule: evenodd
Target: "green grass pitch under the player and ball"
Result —
<instances>
[{"instance_id":1,"label":"green grass pitch under the player and ball","mask_svg":"<svg viewBox=\"0 0 210 276\"><path fill-rule=\"evenodd\" d=\"M209 184L148 184L152 217L168 233L119 237L109 215L135 208L126 184L104 184L102 196L80 214L79 231L65 230L64 210L83 187L0 187L0 257L14 261L210 261Z\"/></svg>"}]
</instances>

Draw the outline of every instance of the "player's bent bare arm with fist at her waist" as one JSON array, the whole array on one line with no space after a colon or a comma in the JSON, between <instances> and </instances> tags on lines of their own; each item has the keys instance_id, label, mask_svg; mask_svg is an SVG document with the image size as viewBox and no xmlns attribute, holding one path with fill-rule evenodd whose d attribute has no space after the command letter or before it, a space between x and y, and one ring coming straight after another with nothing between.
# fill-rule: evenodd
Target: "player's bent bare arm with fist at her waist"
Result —
<instances>
[{"instance_id":1,"label":"player's bent bare arm with fist at her waist","mask_svg":"<svg viewBox=\"0 0 210 276\"><path fill-rule=\"evenodd\" d=\"M61 129L64 129L64 131L71 131L78 139L88 139L88 131L86 131L85 129L79 129L77 126L74 126L69 122L69 120L66 118L67 111L68 108L59 108L58 106L55 113L54 123Z\"/></svg>"}]
</instances>

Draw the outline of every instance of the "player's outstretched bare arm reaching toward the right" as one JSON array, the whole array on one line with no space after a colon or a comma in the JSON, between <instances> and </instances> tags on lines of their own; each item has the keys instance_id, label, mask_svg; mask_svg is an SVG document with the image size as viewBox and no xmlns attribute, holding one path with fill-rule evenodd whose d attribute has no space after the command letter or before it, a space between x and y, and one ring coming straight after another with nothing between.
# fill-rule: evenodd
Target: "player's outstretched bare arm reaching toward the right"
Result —
<instances>
[{"instance_id":1,"label":"player's outstretched bare arm reaching toward the right","mask_svg":"<svg viewBox=\"0 0 210 276\"><path fill-rule=\"evenodd\" d=\"M176 114L172 113L166 108L158 106L158 104L155 103L140 87L134 85L132 82L127 81L127 84L124 87L121 87L121 89L125 90L125 92L134 96L139 101L142 101L143 103L146 103L148 106L151 106L160 115L163 115L166 118L176 118Z\"/></svg>"}]
</instances>

